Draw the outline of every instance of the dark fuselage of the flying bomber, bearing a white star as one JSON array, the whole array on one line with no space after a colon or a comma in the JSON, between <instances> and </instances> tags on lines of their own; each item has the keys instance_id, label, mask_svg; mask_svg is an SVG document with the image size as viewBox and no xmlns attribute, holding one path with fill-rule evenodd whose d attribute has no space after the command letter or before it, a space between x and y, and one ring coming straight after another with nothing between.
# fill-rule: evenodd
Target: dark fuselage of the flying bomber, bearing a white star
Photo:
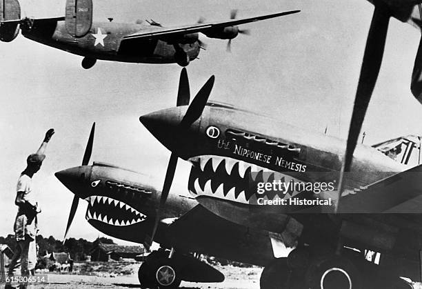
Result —
<instances>
[{"instance_id":1,"label":"dark fuselage of the flying bomber, bearing a white star","mask_svg":"<svg viewBox=\"0 0 422 289\"><path fill-rule=\"evenodd\" d=\"M125 35L154 28L155 26L137 23L94 22L85 36L72 37L66 30L64 20L26 19L21 24L24 37L83 57L134 63L177 62L174 46L164 41L139 40L131 41L131 45L121 45ZM197 58L199 43L178 45L188 54L190 60Z\"/></svg>"}]
</instances>

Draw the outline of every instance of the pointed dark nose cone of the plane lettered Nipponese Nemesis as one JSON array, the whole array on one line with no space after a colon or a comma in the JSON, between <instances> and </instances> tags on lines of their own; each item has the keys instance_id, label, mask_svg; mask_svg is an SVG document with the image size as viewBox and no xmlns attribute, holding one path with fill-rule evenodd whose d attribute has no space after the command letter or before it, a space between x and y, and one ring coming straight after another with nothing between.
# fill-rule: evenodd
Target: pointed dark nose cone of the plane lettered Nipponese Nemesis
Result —
<instances>
[{"instance_id":1,"label":"pointed dark nose cone of the plane lettered Nipponese Nemesis","mask_svg":"<svg viewBox=\"0 0 422 289\"><path fill-rule=\"evenodd\" d=\"M179 143L179 123L187 110L187 106L159 110L139 117L139 121L168 150L174 151Z\"/></svg>"}]
</instances>

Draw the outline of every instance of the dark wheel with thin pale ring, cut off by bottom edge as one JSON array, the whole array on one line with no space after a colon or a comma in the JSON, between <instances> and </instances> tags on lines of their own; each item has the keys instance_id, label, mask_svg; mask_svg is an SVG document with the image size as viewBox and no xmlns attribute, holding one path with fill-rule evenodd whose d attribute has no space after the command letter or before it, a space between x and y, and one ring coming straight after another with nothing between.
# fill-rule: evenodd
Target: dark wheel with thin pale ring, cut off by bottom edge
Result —
<instances>
[{"instance_id":1,"label":"dark wheel with thin pale ring, cut off by bottom edge","mask_svg":"<svg viewBox=\"0 0 422 289\"><path fill-rule=\"evenodd\" d=\"M361 289L361 276L348 259L326 256L310 263L306 279L311 289Z\"/></svg>"}]
</instances>

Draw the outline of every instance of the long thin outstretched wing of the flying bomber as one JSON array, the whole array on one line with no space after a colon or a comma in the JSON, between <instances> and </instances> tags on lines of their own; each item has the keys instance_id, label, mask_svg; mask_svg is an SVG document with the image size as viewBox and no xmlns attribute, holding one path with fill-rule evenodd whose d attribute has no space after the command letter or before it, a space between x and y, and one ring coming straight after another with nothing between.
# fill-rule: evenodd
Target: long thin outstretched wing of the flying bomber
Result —
<instances>
[{"instance_id":1,"label":"long thin outstretched wing of the flying bomber","mask_svg":"<svg viewBox=\"0 0 422 289\"><path fill-rule=\"evenodd\" d=\"M161 27L154 29L153 31L139 31L134 34L129 34L123 37L122 41L128 41L129 39L167 39L172 37L177 37L183 34L195 33L195 32L205 32L209 30L224 28L228 26L237 26L240 24L250 23L254 21L261 21L264 19L270 19L274 17L281 17L288 14L294 14L300 12L300 10L292 10L279 12L275 14L267 14L259 17L250 17L244 19L230 19L228 21L220 21L214 23L196 23L193 25L178 26L173 28ZM154 27L156 28L156 27Z\"/></svg>"}]
</instances>

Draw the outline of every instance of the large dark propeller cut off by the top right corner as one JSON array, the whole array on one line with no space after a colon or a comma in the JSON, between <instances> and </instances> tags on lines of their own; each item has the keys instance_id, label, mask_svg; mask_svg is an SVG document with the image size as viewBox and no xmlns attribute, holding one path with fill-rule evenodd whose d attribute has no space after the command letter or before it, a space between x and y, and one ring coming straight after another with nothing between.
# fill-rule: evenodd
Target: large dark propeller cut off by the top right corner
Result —
<instances>
[{"instance_id":1,"label":"large dark propeller cut off by the top right corner","mask_svg":"<svg viewBox=\"0 0 422 289\"><path fill-rule=\"evenodd\" d=\"M363 54L363 61L361 66L361 74L359 76L359 83L356 90L356 96L354 98L354 107L352 112L352 119L350 121L350 128L348 133L348 141L346 145L345 155L343 158L343 164L341 166L340 178L339 178L339 195L336 203L336 212L339 210L339 203L341 201L341 193L344 188L345 172L350 170L352 166L352 159L356 143L359 138L359 133L362 128L363 119L365 118L366 110L372 92L375 87L376 79L378 78L379 70L383 59L383 53L385 48L385 39L388 32L388 23L390 17L394 17L403 22L416 23L422 21L416 21L412 14L414 14L414 8L417 5L419 8L419 19L422 18L422 8L420 0L381 0L375 1L370 0L374 4L374 14L372 15L372 22L370 30L368 32L368 39L366 41L365 53ZM421 39L422 43L422 39ZM421 102L422 97L422 46L419 43L419 49L416 54L414 62L414 69L412 74L411 90L414 97Z\"/></svg>"}]
</instances>

